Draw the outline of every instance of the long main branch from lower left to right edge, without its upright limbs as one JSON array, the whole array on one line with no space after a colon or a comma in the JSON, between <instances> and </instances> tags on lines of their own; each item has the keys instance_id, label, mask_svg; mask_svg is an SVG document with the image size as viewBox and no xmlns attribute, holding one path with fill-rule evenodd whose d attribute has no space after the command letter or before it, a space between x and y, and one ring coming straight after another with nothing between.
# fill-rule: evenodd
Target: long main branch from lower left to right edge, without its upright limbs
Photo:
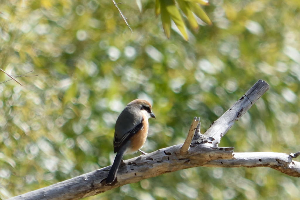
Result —
<instances>
[{"instance_id":1,"label":"long main branch from lower left to right edge, without its upright limbs","mask_svg":"<svg viewBox=\"0 0 300 200\"><path fill-rule=\"evenodd\" d=\"M103 193L125 184L167 172L192 167L271 167L290 176L300 177L300 162L283 153L253 152L233 153L232 147L212 148L207 143L191 147L185 158L180 155L180 145L174 145L125 161L120 166L117 180L105 184L111 166L71 178L11 199L81 199Z\"/></svg>"}]
</instances>

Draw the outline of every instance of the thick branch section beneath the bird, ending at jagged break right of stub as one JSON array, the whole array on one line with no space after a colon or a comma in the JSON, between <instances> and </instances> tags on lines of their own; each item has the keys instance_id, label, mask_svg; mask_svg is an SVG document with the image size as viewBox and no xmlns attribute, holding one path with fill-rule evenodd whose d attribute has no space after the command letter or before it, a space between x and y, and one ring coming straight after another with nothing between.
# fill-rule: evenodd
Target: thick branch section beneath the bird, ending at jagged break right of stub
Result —
<instances>
[{"instance_id":1,"label":"thick branch section beneath the bird, ending at jagged break right of stub","mask_svg":"<svg viewBox=\"0 0 300 200\"><path fill-rule=\"evenodd\" d=\"M108 166L11 199L81 199L167 172L202 166L208 160L230 159L233 152L233 148L212 149L203 144L191 148L189 154L181 158L181 147L182 144L174 145L126 160L125 165L119 167L113 184L105 183L111 167Z\"/></svg>"}]
</instances>

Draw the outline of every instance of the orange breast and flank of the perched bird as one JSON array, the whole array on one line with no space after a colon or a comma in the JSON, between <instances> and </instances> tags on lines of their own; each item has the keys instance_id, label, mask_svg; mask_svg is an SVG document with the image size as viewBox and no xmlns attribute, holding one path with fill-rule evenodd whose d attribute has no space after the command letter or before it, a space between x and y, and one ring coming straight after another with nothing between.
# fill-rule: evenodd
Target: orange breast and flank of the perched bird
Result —
<instances>
[{"instance_id":1,"label":"orange breast and flank of the perched bird","mask_svg":"<svg viewBox=\"0 0 300 200\"><path fill-rule=\"evenodd\" d=\"M130 139L131 140L131 146L130 146L129 151L134 152L134 151L139 150L140 148L142 148L142 146L146 142L147 135L148 135L148 127L149 127L147 118L144 118L143 125L144 125L143 129L140 130L139 132L137 132Z\"/></svg>"}]
</instances>

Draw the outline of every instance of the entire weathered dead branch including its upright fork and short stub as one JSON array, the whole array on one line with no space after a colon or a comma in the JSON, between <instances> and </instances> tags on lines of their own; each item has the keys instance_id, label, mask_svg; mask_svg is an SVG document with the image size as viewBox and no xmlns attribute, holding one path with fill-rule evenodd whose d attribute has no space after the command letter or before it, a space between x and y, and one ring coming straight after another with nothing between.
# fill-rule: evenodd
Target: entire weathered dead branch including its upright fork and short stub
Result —
<instances>
[{"instance_id":1,"label":"entire weathered dead branch including its upright fork and short stub","mask_svg":"<svg viewBox=\"0 0 300 200\"><path fill-rule=\"evenodd\" d=\"M81 199L146 178L199 166L271 167L287 175L300 177L300 163L292 160L299 156L299 152L290 155L270 152L233 153L233 147L216 147L234 121L240 118L267 90L266 82L262 80L256 82L240 100L211 125L204 139L199 133L198 123L193 138L194 123L196 124L194 119L195 122L184 144L126 160L119 167L117 178L112 184L106 184L105 181L111 168L108 166L11 199ZM191 145L190 138L193 138ZM182 154L183 151L186 153Z\"/></svg>"}]
</instances>

